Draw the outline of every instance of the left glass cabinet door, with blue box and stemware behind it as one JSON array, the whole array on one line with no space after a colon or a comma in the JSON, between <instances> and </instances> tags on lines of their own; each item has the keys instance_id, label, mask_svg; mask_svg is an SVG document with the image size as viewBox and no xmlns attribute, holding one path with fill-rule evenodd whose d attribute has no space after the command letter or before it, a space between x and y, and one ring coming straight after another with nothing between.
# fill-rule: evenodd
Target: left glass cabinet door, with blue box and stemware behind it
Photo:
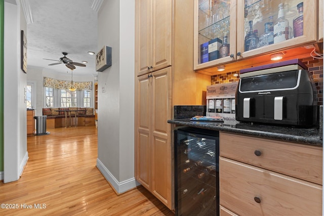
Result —
<instances>
[{"instance_id":1,"label":"left glass cabinet door, with blue box and stemware behind it","mask_svg":"<svg viewBox=\"0 0 324 216\"><path fill-rule=\"evenodd\" d=\"M236 60L236 0L195 0L194 69Z\"/></svg>"}]
</instances>

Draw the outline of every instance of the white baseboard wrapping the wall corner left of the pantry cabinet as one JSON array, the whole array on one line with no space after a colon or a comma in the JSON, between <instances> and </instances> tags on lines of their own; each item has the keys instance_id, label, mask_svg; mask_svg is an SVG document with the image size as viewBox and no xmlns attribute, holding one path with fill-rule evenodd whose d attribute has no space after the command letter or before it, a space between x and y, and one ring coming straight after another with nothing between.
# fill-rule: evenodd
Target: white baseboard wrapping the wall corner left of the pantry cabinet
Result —
<instances>
[{"instance_id":1,"label":"white baseboard wrapping the wall corner left of the pantry cabinet","mask_svg":"<svg viewBox=\"0 0 324 216\"><path fill-rule=\"evenodd\" d=\"M111 172L107 169L107 167L98 158L97 167L100 170L101 174L105 177L105 179L110 183L110 185L115 189L115 191L118 194L129 191L140 185L135 180L135 178L131 178L123 182L118 182L116 178L111 174Z\"/></svg>"}]
</instances>

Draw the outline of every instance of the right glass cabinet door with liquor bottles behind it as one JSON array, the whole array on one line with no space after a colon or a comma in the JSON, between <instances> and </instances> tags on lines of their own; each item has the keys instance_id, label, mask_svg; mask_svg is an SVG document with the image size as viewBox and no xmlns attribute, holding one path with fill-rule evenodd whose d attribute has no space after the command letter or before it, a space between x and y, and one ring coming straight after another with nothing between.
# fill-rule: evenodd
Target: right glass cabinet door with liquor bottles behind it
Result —
<instances>
[{"instance_id":1,"label":"right glass cabinet door with liquor bottles behind it","mask_svg":"<svg viewBox=\"0 0 324 216\"><path fill-rule=\"evenodd\" d=\"M237 59L317 39L316 0L245 0L237 8Z\"/></svg>"}]
</instances>

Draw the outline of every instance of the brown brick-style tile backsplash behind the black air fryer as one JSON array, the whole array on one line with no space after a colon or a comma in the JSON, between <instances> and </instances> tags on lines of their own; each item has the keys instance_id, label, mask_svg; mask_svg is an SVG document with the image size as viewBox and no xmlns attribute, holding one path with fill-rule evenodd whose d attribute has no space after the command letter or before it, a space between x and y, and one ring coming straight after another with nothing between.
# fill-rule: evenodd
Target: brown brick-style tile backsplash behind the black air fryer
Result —
<instances>
[{"instance_id":1,"label":"brown brick-style tile backsplash behind the black air fryer","mask_svg":"<svg viewBox=\"0 0 324 216\"><path fill-rule=\"evenodd\" d=\"M323 105L323 59L315 59L313 57L301 59L301 61L308 67L309 72L312 74L317 89L317 105ZM239 71L227 72L217 74L211 77L211 83L228 83L239 80Z\"/></svg>"}]
</instances>

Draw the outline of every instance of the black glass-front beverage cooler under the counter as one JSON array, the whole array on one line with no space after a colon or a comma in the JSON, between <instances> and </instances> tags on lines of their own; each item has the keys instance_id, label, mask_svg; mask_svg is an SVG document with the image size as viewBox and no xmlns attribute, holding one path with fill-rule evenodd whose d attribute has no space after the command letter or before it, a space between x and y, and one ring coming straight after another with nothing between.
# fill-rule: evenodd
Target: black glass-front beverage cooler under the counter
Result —
<instances>
[{"instance_id":1,"label":"black glass-front beverage cooler under the counter","mask_svg":"<svg viewBox=\"0 0 324 216\"><path fill-rule=\"evenodd\" d=\"M175 130L176 215L219 215L219 132Z\"/></svg>"}]
</instances>

